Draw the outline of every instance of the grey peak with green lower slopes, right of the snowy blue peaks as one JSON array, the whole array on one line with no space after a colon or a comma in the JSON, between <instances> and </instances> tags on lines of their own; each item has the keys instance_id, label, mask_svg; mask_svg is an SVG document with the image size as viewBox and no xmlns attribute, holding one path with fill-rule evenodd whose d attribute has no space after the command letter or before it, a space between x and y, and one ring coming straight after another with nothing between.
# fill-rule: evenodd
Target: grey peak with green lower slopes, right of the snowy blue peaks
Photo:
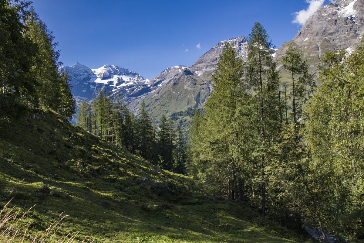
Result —
<instances>
[{"instance_id":1,"label":"grey peak with green lower slopes, right of the snowy blue peaks","mask_svg":"<svg viewBox=\"0 0 364 243\"><path fill-rule=\"evenodd\" d=\"M141 97L149 113L155 117L161 114L169 116L176 111L203 106L211 92L211 74L225 42L232 43L238 53L246 56L247 41L244 36L221 41L198 58L191 67L171 67L151 79L151 86L158 87ZM138 111L142 101L136 102L133 102L132 107Z\"/></svg>"}]
</instances>

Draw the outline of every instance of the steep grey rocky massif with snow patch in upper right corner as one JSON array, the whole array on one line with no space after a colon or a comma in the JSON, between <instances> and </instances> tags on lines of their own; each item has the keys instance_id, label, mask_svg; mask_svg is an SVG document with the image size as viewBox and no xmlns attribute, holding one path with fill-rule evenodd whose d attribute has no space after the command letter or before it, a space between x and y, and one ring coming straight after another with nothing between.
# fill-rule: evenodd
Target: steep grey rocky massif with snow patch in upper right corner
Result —
<instances>
[{"instance_id":1,"label":"steep grey rocky massif with snow patch in upper right corner","mask_svg":"<svg viewBox=\"0 0 364 243\"><path fill-rule=\"evenodd\" d=\"M292 39L307 58L312 71L327 51L355 49L364 34L364 0L338 0L328 3L310 17ZM288 42L277 51L278 63Z\"/></svg>"}]
</instances>

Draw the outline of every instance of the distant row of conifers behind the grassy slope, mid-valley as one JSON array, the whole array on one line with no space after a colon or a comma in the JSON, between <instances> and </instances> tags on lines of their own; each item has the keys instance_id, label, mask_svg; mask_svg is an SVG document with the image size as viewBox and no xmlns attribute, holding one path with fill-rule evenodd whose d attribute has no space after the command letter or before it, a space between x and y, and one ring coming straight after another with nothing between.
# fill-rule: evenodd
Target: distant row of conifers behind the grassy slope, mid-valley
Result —
<instances>
[{"instance_id":1,"label":"distant row of conifers behind the grassy slope, mid-valley","mask_svg":"<svg viewBox=\"0 0 364 243\"><path fill-rule=\"evenodd\" d=\"M150 119L144 101L136 118L120 94L111 97L108 92L99 90L92 102L86 98L80 103L77 125L154 165L185 173L187 148L180 126L176 128L165 115L157 125Z\"/></svg>"}]
</instances>

